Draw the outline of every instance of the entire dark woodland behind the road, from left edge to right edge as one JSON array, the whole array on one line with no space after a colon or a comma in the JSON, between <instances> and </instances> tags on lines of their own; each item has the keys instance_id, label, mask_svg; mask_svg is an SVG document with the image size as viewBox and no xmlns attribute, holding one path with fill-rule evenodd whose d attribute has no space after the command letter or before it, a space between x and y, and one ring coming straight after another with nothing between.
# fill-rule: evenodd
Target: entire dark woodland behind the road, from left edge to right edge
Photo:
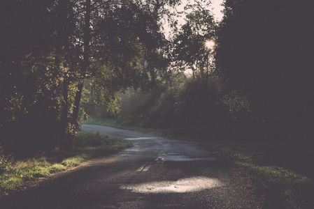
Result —
<instances>
[{"instance_id":1,"label":"entire dark woodland behind the road, from left edge to right edge","mask_svg":"<svg viewBox=\"0 0 314 209\"><path fill-rule=\"evenodd\" d=\"M313 1L5 0L0 146L71 149L80 121L259 141L314 162ZM173 36L165 38L162 20Z\"/></svg>"}]
</instances>

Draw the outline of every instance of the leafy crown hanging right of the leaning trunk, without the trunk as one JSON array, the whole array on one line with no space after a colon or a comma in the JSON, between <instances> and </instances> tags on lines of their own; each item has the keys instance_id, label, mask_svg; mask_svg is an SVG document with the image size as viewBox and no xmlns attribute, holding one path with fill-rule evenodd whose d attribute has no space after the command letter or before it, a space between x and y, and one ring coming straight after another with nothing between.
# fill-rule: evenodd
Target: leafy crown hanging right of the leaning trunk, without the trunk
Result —
<instances>
[{"instance_id":1,"label":"leafy crown hanging right of the leaning trunk, without the trunk","mask_svg":"<svg viewBox=\"0 0 314 209\"><path fill-rule=\"evenodd\" d=\"M124 1L107 5L92 21L91 72L87 79L96 102L111 102L126 88L150 88L165 69L159 5Z\"/></svg>"}]
</instances>

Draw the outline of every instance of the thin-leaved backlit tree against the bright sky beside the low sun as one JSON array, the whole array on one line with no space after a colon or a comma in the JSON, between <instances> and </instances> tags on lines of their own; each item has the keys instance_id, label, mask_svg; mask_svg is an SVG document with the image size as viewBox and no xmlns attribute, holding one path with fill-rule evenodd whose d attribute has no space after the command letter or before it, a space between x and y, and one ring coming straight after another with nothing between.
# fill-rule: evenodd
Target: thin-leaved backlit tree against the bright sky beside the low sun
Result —
<instances>
[{"instance_id":1,"label":"thin-leaved backlit tree against the bright sky beside the low sun","mask_svg":"<svg viewBox=\"0 0 314 209\"><path fill-rule=\"evenodd\" d=\"M215 41L216 25L213 15L200 3L190 8L193 10L186 15L186 24L173 40L173 62L183 70L192 70L194 79L199 75L201 82L207 84L209 72L213 69L210 66L213 59L210 47L213 46L206 46L206 43Z\"/></svg>"}]
</instances>

